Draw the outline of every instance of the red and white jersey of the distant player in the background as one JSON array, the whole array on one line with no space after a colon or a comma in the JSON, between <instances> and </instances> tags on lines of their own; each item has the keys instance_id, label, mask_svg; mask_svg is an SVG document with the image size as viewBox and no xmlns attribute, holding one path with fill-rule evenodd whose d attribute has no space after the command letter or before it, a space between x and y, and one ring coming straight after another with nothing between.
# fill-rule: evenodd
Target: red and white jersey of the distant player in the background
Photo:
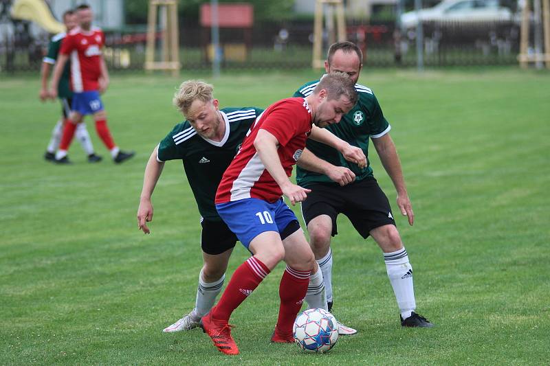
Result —
<instances>
[{"instance_id":1,"label":"red and white jersey of the distant player in the background","mask_svg":"<svg viewBox=\"0 0 550 366\"><path fill-rule=\"evenodd\" d=\"M76 27L63 40L60 52L71 60L71 89L75 93L99 89L104 43L105 36L97 27L89 31Z\"/></svg>"}]
</instances>

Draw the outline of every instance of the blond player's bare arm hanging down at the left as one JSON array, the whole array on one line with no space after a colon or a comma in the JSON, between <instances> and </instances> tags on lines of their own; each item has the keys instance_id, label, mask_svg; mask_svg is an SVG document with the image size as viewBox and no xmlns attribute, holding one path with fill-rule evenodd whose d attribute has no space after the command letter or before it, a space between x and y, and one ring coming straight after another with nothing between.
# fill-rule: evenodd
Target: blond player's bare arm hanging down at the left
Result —
<instances>
[{"instance_id":1,"label":"blond player's bare arm hanging down at the left","mask_svg":"<svg viewBox=\"0 0 550 366\"><path fill-rule=\"evenodd\" d=\"M151 230L147 227L147 222L153 220L153 203L151 203L151 196L159 180L159 176L164 168L164 163L157 161L158 146L151 153L149 161L145 167L145 174L143 178L142 194L140 196L140 207L137 208L137 228L144 233L151 233Z\"/></svg>"}]
</instances>

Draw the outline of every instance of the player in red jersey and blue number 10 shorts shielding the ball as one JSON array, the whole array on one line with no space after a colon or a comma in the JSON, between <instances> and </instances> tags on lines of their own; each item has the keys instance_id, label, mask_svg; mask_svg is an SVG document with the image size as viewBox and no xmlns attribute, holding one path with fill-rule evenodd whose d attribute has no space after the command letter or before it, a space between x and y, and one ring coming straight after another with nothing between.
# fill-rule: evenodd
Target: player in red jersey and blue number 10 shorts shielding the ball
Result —
<instances>
[{"instance_id":1,"label":"player in red jersey and blue number 10 shorts shielding the ball","mask_svg":"<svg viewBox=\"0 0 550 366\"><path fill-rule=\"evenodd\" d=\"M239 353L228 325L231 313L281 260L285 260L287 268L279 287L281 306L271 341L294 342L292 323L316 262L296 216L281 194L294 205L310 192L288 179L308 136L337 148L346 159L366 165L360 148L316 127L338 123L357 98L349 76L332 73L322 78L307 98L272 104L256 119L241 150L225 170L216 208L253 256L236 269L217 306L201 319L201 328L219 351Z\"/></svg>"}]
</instances>

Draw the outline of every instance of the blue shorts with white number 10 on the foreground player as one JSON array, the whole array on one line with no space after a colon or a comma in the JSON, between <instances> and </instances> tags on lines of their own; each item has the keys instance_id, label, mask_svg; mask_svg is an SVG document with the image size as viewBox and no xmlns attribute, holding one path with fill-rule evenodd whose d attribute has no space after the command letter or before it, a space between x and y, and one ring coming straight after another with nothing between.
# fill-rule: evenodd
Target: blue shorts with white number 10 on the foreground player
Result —
<instances>
[{"instance_id":1,"label":"blue shorts with white number 10 on the foreground player","mask_svg":"<svg viewBox=\"0 0 550 366\"><path fill-rule=\"evenodd\" d=\"M259 198L244 198L239 201L219 203L216 209L246 249L252 239L259 234L265 231L281 233L292 221L298 220L283 198L275 203Z\"/></svg>"}]
</instances>

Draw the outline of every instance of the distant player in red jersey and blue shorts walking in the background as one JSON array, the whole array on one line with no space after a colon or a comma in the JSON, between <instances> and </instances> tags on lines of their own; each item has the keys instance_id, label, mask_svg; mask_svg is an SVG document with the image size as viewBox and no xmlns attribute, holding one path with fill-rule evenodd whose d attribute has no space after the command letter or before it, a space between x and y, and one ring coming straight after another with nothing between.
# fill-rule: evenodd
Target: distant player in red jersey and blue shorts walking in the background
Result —
<instances>
[{"instance_id":1,"label":"distant player in red jersey and blue shorts walking in the background","mask_svg":"<svg viewBox=\"0 0 550 366\"><path fill-rule=\"evenodd\" d=\"M105 37L98 27L92 27L94 14L88 5L76 8L79 27L67 34L56 62L50 95L55 98L57 85L65 63L71 58L71 88L73 91L72 113L70 123L65 124L59 150L56 152L57 163L69 163L67 149L74 136L76 125L82 122L85 115L94 115L96 131L113 157L115 163L122 163L133 157L134 152L124 152L116 146L107 127L107 114L101 102L100 93L109 85L109 73L102 55Z\"/></svg>"}]
</instances>

